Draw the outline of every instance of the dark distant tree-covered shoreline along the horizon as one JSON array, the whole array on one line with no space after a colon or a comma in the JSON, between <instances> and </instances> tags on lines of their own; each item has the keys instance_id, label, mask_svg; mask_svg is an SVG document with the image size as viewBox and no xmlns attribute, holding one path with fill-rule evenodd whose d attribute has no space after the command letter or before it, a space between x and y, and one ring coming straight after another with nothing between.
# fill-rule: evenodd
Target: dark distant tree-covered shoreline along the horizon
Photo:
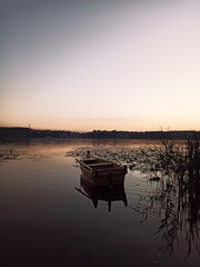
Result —
<instances>
[{"instance_id":1,"label":"dark distant tree-covered shoreline along the horizon","mask_svg":"<svg viewBox=\"0 0 200 267\"><path fill-rule=\"evenodd\" d=\"M196 131L118 131L93 130L88 132L66 130L37 130L22 127L0 127L0 138L93 138L93 139L189 139Z\"/></svg>"}]
</instances>

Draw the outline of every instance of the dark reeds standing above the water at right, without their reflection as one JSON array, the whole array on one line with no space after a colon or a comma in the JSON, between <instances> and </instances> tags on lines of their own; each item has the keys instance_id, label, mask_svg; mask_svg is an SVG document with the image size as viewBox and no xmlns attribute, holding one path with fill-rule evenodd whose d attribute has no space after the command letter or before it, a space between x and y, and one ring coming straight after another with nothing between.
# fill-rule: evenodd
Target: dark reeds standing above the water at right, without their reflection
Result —
<instances>
[{"instance_id":1,"label":"dark reeds standing above the water at right, without their reflection","mask_svg":"<svg viewBox=\"0 0 200 267\"><path fill-rule=\"evenodd\" d=\"M149 166L159 168L166 175L174 175L183 181L200 182L200 136L194 134L184 141L161 140L161 146L151 147Z\"/></svg>"}]
</instances>

